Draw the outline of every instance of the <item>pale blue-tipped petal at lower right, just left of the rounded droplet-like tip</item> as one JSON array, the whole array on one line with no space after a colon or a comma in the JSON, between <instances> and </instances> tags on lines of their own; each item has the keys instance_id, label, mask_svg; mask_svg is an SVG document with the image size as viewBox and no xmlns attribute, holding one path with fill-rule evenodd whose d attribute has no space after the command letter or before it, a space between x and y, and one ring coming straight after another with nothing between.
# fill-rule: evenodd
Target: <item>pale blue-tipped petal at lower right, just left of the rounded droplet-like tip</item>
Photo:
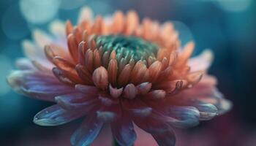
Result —
<instances>
[{"instance_id":1,"label":"pale blue-tipped petal at lower right, just left of the rounded droplet-like tip","mask_svg":"<svg viewBox=\"0 0 256 146\"><path fill-rule=\"evenodd\" d=\"M166 120L175 127L189 128L197 126L199 123L200 112L195 107L170 107L170 113Z\"/></svg>"}]
</instances>

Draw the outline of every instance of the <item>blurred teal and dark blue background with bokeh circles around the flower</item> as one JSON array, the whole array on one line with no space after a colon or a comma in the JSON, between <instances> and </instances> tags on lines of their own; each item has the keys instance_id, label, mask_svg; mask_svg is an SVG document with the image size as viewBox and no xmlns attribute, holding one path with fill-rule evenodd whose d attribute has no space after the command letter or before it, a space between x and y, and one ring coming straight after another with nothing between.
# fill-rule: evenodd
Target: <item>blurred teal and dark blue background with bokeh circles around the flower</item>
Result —
<instances>
[{"instance_id":1,"label":"blurred teal and dark blue background with bokeh circles around the flower","mask_svg":"<svg viewBox=\"0 0 256 146\"><path fill-rule=\"evenodd\" d=\"M14 93L7 74L23 56L20 44L31 31L45 31L52 20L76 22L89 6L94 14L135 9L140 18L173 20L184 45L196 43L215 54L210 74L233 101L233 110L200 126L178 130L178 146L256 145L256 1L254 0L8 0L0 1L0 145L69 145L79 120L64 126L40 127L32 119L50 105Z\"/></svg>"}]
</instances>

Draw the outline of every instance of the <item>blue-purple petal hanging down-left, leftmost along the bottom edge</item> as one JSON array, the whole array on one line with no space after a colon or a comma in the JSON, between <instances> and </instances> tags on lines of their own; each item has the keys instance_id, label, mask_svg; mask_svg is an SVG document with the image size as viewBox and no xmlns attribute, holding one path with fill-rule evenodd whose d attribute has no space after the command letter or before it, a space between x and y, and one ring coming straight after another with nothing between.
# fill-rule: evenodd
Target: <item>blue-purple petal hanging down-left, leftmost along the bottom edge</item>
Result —
<instances>
[{"instance_id":1,"label":"blue-purple petal hanging down-left, leftmost along the bottom edge","mask_svg":"<svg viewBox=\"0 0 256 146\"><path fill-rule=\"evenodd\" d=\"M91 145L101 130L103 123L94 116L88 116L85 122L72 135L70 142L75 146ZM102 144L104 145L104 144Z\"/></svg>"}]
</instances>

